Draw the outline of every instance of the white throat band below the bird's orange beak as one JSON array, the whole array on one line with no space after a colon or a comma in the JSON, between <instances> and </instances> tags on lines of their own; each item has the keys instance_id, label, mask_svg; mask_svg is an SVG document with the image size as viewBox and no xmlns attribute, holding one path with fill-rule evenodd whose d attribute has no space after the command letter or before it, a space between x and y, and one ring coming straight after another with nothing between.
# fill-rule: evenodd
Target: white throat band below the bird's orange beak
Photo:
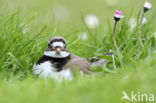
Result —
<instances>
[{"instance_id":1,"label":"white throat band below the bird's orange beak","mask_svg":"<svg viewBox=\"0 0 156 103\"><path fill-rule=\"evenodd\" d=\"M45 51L44 55L53 57L53 58L65 58L69 56L69 53L65 51L61 51L60 54L58 55L55 53L55 51Z\"/></svg>"}]
</instances>

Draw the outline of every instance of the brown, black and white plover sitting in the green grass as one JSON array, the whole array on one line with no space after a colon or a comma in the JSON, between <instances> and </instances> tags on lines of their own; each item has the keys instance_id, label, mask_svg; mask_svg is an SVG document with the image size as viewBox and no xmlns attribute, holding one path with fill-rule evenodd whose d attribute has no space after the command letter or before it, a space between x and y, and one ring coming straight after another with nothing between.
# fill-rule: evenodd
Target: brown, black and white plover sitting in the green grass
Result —
<instances>
[{"instance_id":1,"label":"brown, black and white plover sitting in the green grass","mask_svg":"<svg viewBox=\"0 0 156 103\"><path fill-rule=\"evenodd\" d=\"M73 80L74 73L94 73L86 58L69 52L67 42L62 36L54 36L48 40L43 56L34 64L33 74L39 78L53 78L55 80Z\"/></svg>"}]
</instances>

